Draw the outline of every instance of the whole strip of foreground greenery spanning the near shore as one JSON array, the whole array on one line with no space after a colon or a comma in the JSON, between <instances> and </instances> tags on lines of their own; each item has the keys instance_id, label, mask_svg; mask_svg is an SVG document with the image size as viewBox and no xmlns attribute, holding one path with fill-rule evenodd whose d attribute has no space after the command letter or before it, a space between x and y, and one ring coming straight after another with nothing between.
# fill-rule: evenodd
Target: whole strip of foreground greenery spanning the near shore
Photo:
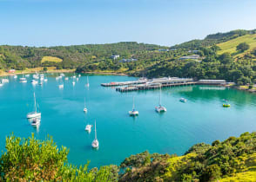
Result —
<instances>
[{"instance_id":1,"label":"whole strip of foreground greenery spanning the near shore","mask_svg":"<svg viewBox=\"0 0 256 182\"><path fill-rule=\"evenodd\" d=\"M256 133L243 133L212 145L199 143L183 156L138 153L120 166L98 168L67 163L68 149L51 138L6 138L0 181L256 181Z\"/></svg>"}]
</instances>

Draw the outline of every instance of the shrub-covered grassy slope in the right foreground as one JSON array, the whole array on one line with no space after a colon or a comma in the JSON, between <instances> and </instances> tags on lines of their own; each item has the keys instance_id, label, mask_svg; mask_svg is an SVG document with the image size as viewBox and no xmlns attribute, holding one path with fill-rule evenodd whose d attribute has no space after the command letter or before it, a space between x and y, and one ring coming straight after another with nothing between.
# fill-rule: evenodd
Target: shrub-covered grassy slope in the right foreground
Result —
<instances>
[{"instance_id":1,"label":"shrub-covered grassy slope in the right foreground","mask_svg":"<svg viewBox=\"0 0 256 182\"><path fill-rule=\"evenodd\" d=\"M212 146L197 144L183 156L169 156L147 166L129 166L131 170L120 176L120 181L216 181L256 179L256 133L243 133ZM144 156L132 156L141 160ZM133 164L137 164L134 162ZM156 167L158 166L158 167ZM156 175L158 174L158 175Z\"/></svg>"}]
</instances>

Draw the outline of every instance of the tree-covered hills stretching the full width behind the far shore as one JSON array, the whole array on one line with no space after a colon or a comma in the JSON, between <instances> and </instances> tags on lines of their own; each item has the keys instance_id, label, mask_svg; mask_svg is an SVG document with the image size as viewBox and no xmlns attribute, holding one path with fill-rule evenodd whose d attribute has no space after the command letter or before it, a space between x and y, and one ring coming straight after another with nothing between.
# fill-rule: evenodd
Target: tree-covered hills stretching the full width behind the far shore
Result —
<instances>
[{"instance_id":1,"label":"tree-covered hills stretching the full width behind the far shore","mask_svg":"<svg viewBox=\"0 0 256 182\"><path fill-rule=\"evenodd\" d=\"M234 53L219 54L221 49L218 44L246 35L255 37L256 29L212 34L203 40L192 40L172 47L138 42L49 48L3 45L0 46L0 68L23 70L56 67L76 69L79 73L112 72L146 77L225 79L244 85L256 82L256 48L250 48L249 44L243 42ZM252 40L256 42L255 38ZM239 54L242 56L236 56ZM111 58L111 55L119 56ZM190 58L192 55L199 55L199 58ZM57 58L61 62L44 59L46 57Z\"/></svg>"}]
</instances>

